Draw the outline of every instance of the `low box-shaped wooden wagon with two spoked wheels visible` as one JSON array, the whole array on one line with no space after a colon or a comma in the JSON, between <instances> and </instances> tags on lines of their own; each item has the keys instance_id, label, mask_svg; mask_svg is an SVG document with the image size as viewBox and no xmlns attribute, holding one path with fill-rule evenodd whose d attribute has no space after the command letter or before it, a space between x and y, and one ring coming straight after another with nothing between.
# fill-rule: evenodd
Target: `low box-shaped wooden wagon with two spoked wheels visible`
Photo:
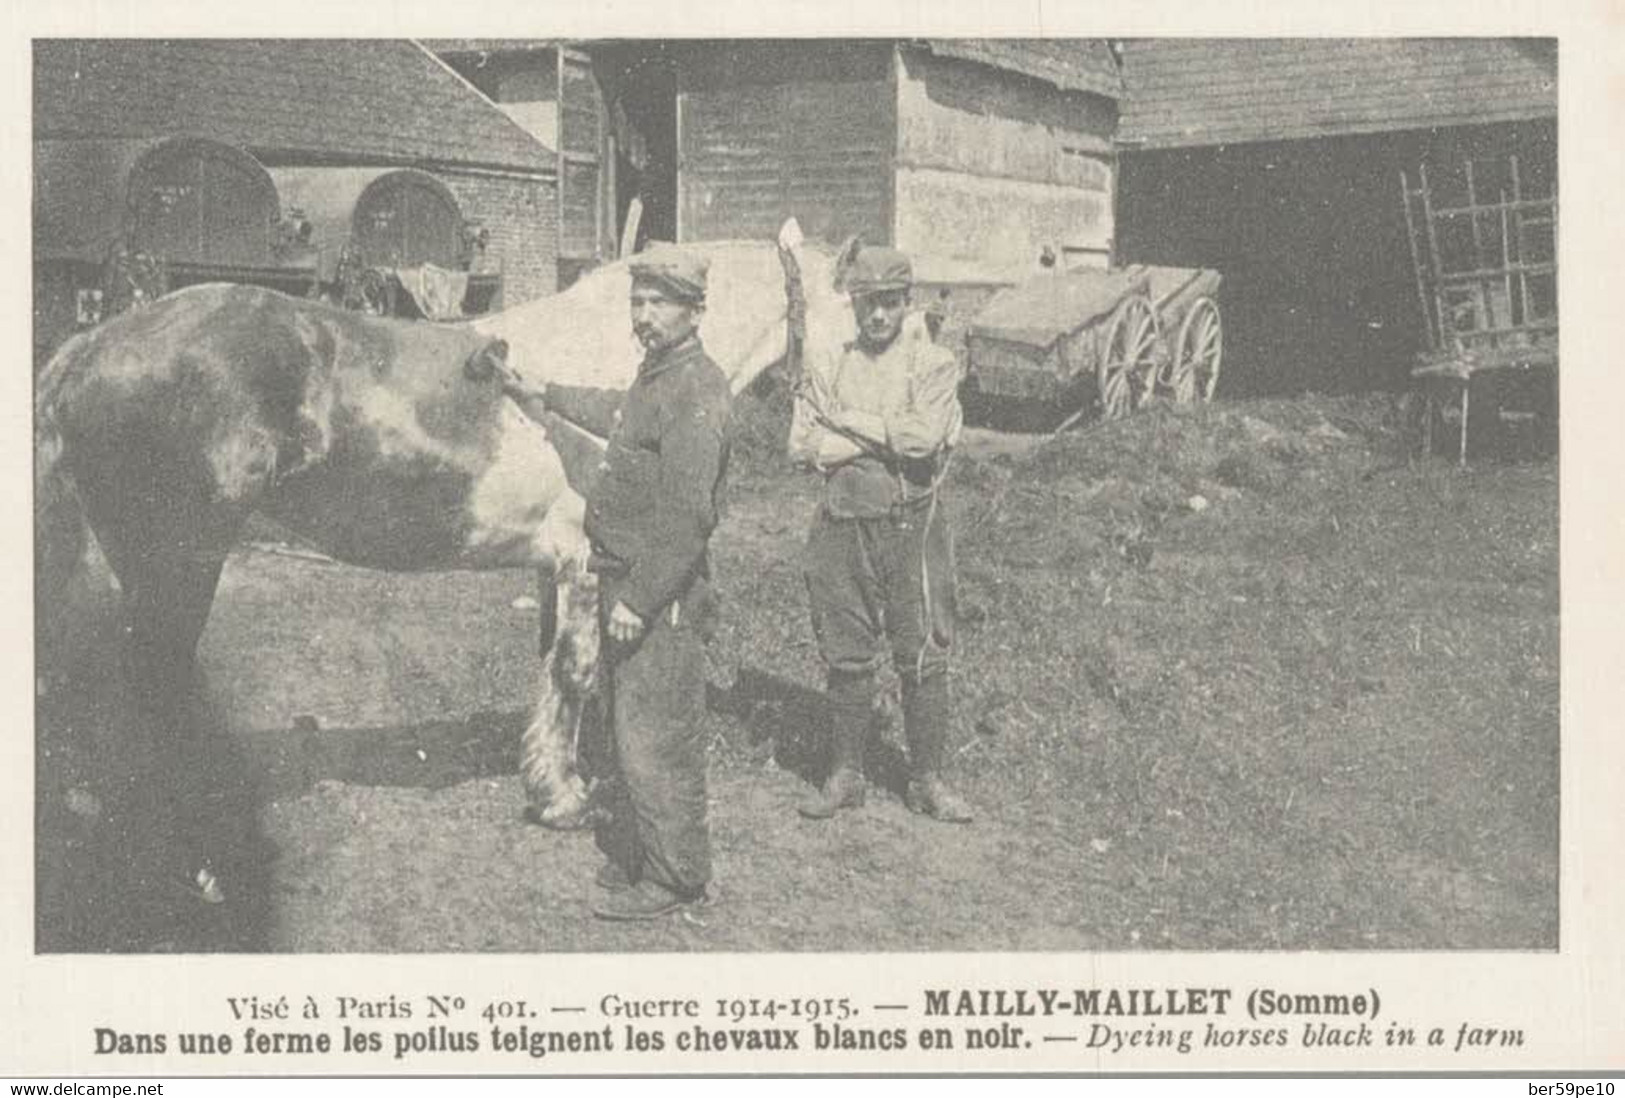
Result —
<instances>
[{"instance_id":1,"label":"low box-shaped wooden wagon with two spoked wheels visible","mask_svg":"<svg viewBox=\"0 0 1625 1098\"><path fill-rule=\"evenodd\" d=\"M1126 416L1157 391L1212 400L1224 359L1219 271L1079 270L996 294L967 333L982 393Z\"/></svg>"}]
</instances>

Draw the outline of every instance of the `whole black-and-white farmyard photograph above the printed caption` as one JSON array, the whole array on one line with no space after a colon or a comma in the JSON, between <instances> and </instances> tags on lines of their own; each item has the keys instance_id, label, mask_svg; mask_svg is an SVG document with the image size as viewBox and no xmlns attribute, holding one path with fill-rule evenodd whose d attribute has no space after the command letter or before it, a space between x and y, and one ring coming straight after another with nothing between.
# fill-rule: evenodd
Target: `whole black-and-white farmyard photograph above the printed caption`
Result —
<instances>
[{"instance_id":1,"label":"whole black-and-white farmyard photograph above the printed caption","mask_svg":"<svg viewBox=\"0 0 1625 1098\"><path fill-rule=\"evenodd\" d=\"M1571 37L211 26L28 44L34 962L1573 944Z\"/></svg>"}]
</instances>

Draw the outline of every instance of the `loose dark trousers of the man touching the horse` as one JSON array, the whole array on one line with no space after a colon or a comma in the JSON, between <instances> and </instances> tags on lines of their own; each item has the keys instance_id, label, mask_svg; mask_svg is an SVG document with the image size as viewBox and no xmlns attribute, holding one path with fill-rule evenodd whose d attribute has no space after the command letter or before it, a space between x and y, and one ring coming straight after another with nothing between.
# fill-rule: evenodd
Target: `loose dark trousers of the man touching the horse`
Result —
<instances>
[{"instance_id":1,"label":"loose dark trousers of the man touching the horse","mask_svg":"<svg viewBox=\"0 0 1625 1098\"><path fill-rule=\"evenodd\" d=\"M600 588L606 627L618 585ZM697 607L696 607L697 609ZM699 612L679 603L645 622L635 645L604 629L606 713L619 781L600 845L627 874L684 897L710 884L705 822L705 648ZM687 619L682 617L687 614Z\"/></svg>"}]
</instances>

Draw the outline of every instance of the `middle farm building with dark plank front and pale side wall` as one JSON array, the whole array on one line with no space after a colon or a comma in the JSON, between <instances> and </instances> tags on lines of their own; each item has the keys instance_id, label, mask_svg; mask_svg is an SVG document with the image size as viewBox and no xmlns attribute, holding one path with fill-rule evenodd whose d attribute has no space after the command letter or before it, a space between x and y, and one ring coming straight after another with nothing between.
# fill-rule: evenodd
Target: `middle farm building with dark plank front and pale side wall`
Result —
<instances>
[{"instance_id":1,"label":"middle farm building with dark plank front and pale side wall","mask_svg":"<svg viewBox=\"0 0 1625 1098\"><path fill-rule=\"evenodd\" d=\"M762 239L790 214L827 242L902 247L942 281L1017 278L1045 249L1103 265L1112 249L1103 41L429 45L556 141L566 266L613 257L629 227Z\"/></svg>"}]
</instances>

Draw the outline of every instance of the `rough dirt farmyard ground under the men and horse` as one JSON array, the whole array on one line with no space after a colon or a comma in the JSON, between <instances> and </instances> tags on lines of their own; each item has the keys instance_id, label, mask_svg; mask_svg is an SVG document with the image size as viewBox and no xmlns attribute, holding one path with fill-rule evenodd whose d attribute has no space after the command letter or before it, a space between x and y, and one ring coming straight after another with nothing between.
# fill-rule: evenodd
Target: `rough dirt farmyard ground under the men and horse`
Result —
<instances>
[{"instance_id":1,"label":"rough dirt farmyard ground under the men and horse","mask_svg":"<svg viewBox=\"0 0 1625 1098\"><path fill-rule=\"evenodd\" d=\"M595 921L585 833L525 824L523 573L244 549L208 731L136 728L107 598L41 702L41 950L1555 949L1555 460L1415 461L1388 396L1152 408L956 458L952 778L795 814L821 775L798 554L816 486L741 460L713 543L720 898ZM203 905L172 851L208 851ZM202 840L198 840L202 836Z\"/></svg>"}]
</instances>

